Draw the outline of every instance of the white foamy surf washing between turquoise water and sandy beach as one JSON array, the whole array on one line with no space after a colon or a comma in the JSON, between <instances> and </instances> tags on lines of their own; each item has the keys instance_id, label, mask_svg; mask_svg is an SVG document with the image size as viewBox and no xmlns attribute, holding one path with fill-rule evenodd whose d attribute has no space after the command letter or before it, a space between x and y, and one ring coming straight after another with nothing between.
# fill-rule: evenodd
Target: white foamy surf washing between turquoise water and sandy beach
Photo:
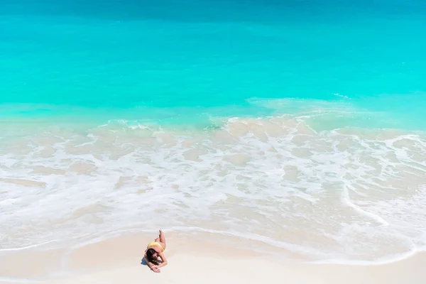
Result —
<instances>
[{"instance_id":1,"label":"white foamy surf washing between turquoise water and sandy beach","mask_svg":"<svg viewBox=\"0 0 426 284\"><path fill-rule=\"evenodd\" d=\"M234 118L204 131L110 121L0 139L0 249L77 244L136 224L322 261L425 247L425 136L314 131L310 117Z\"/></svg>"}]
</instances>

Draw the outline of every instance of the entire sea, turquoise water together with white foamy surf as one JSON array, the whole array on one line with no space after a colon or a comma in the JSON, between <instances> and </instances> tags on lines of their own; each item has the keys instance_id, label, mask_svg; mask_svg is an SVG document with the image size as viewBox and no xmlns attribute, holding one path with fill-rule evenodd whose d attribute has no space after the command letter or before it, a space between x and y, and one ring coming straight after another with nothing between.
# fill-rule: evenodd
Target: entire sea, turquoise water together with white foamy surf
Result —
<instances>
[{"instance_id":1,"label":"entire sea, turquoise water together with white foamy surf","mask_svg":"<svg viewBox=\"0 0 426 284\"><path fill-rule=\"evenodd\" d=\"M1 1L0 254L157 229L312 261L425 249L425 11Z\"/></svg>"}]
</instances>

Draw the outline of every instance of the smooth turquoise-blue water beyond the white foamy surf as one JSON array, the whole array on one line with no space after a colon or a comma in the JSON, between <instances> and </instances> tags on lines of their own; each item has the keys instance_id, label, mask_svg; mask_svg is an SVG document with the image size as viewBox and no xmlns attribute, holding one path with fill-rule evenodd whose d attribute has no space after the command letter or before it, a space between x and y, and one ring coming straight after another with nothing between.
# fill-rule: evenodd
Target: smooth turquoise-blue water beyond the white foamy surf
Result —
<instances>
[{"instance_id":1,"label":"smooth turquoise-blue water beyond the white foamy surf","mask_svg":"<svg viewBox=\"0 0 426 284\"><path fill-rule=\"evenodd\" d=\"M180 124L305 102L347 107L348 125L425 129L425 11L420 0L1 1L0 118Z\"/></svg>"}]
</instances>

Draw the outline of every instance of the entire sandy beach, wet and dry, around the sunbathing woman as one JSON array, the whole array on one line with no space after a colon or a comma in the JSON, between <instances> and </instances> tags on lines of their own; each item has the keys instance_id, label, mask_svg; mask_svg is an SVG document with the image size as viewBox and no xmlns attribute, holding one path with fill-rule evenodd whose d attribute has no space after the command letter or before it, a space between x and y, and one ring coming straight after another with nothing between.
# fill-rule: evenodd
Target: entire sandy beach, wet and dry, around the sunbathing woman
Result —
<instances>
[{"instance_id":1,"label":"entire sandy beach, wet and dry, around the sunbathing woman","mask_svg":"<svg viewBox=\"0 0 426 284\"><path fill-rule=\"evenodd\" d=\"M239 249L214 239L187 239L168 234L165 256L168 266L153 273L141 264L147 241L141 234L117 236L76 249L17 251L0 257L0 283L217 283L234 279L257 283L264 278L284 277L290 283L422 283L426 252L388 263L313 263L302 258L285 258ZM155 236L155 234L154 234ZM197 260L197 261L194 261ZM191 267L191 272L185 269ZM267 271L264 273L263 271ZM209 278L209 275L214 277ZM408 279L410 278L410 281ZM185 280L184 280L185 279ZM348 280L350 279L350 280ZM210 282L209 282L210 281ZM349 281L349 282L348 282ZM361 282L360 282L361 281Z\"/></svg>"}]
</instances>

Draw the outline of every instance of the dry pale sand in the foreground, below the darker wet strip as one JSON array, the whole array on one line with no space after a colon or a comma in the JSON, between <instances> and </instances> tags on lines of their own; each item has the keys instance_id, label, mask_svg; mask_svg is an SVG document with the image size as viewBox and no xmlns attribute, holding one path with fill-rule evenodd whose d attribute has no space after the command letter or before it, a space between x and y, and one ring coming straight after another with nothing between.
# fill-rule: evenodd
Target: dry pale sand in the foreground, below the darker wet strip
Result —
<instances>
[{"instance_id":1,"label":"dry pale sand in the foreground, below the darker wet strip","mask_svg":"<svg viewBox=\"0 0 426 284\"><path fill-rule=\"evenodd\" d=\"M231 256L177 254L161 273L132 264L51 283L425 283L423 263L418 255L383 266L309 265ZM130 262L130 261L129 261Z\"/></svg>"}]
</instances>

